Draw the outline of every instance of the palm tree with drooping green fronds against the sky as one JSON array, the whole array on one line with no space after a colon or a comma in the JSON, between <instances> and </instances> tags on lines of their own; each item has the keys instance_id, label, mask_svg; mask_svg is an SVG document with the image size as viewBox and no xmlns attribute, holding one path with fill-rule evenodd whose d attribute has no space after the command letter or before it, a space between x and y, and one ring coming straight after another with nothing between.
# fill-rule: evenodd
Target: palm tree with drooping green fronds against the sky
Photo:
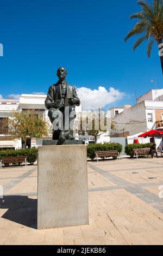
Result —
<instances>
[{"instance_id":1,"label":"palm tree with drooping green fronds against the sky","mask_svg":"<svg viewBox=\"0 0 163 256\"><path fill-rule=\"evenodd\" d=\"M133 50L135 51L137 46L147 40L149 42L147 47L147 55L149 58L155 41L159 49L162 48L163 0L153 0L153 6L146 1L138 1L138 4L141 5L142 11L131 15L130 19L138 19L139 21L124 40L127 41L133 35L142 34L142 36L136 40ZM163 54L161 54L160 50L159 52L163 74Z\"/></svg>"}]
</instances>

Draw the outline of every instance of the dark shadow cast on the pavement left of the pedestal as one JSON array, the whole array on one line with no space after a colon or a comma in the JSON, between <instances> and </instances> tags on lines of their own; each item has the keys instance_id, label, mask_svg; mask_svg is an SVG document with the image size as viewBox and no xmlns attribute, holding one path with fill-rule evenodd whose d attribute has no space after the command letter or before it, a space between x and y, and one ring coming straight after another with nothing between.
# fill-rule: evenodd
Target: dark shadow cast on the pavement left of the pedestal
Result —
<instances>
[{"instance_id":1,"label":"dark shadow cast on the pavement left of the pedestal","mask_svg":"<svg viewBox=\"0 0 163 256\"><path fill-rule=\"evenodd\" d=\"M30 228L37 228L37 199L21 195L0 198L0 209L8 209L2 218Z\"/></svg>"}]
</instances>

